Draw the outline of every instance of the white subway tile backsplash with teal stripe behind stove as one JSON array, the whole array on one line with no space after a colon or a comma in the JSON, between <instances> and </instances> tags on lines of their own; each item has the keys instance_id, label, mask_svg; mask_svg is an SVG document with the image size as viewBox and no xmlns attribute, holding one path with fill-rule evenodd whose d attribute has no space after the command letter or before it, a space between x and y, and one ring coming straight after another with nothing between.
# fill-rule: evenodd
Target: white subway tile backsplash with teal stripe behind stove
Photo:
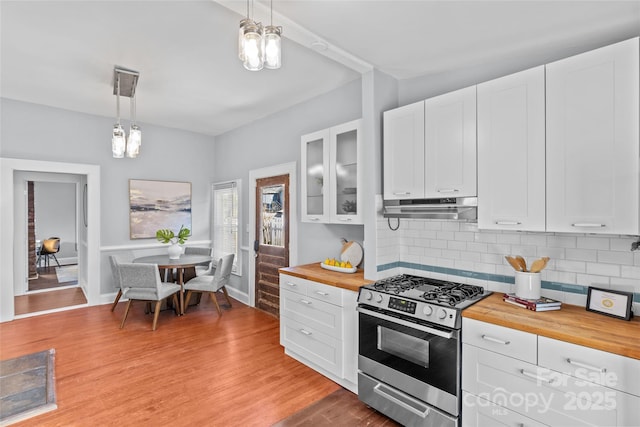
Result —
<instances>
[{"instance_id":1,"label":"white subway tile backsplash with teal stripe behind stove","mask_svg":"<svg viewBox=\"0 0 640 427\"><path fill-rule=\"evenodd\" d=\"M416 263L427 267L452 269L441 274L424 269L399 267L379 273L388 277L402 272L462 283L477 281L494 292L513 292L513 268L505 255L523 255L530 265L542 256L550 261L542 272L543 292L565 303L585 305L586 295L563 285L611 287L640 293L640 251L630 251L632 236L593 236L583 234L532 233L478 230L477 224L438 220L401 220L392 231L387 220L378 222L377 263ZM456 270L497 275L498 281L455 275ZM436 277L438 276L438 277ZM544 282L554 289L545 288ZM575 288L575 287L574 287ZM635 304L640 307L640 304Z\"/></svg>"}]
</instances>

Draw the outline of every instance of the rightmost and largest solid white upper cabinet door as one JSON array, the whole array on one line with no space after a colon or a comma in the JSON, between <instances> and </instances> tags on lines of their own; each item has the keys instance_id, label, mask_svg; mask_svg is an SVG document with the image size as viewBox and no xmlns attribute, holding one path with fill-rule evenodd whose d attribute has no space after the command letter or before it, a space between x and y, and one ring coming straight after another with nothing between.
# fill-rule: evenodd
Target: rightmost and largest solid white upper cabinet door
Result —
<instances>
[{"instance_id":1,"label":"rightmost and largest solid white upper cabinet door","mask_svg":"<svg viewBox=\"0 0 640 427\"><path fill-rule=\"evenodd\" d=\"M640 234L638 38L546 66L547 231Z\"/></svg>"}]
</instances>

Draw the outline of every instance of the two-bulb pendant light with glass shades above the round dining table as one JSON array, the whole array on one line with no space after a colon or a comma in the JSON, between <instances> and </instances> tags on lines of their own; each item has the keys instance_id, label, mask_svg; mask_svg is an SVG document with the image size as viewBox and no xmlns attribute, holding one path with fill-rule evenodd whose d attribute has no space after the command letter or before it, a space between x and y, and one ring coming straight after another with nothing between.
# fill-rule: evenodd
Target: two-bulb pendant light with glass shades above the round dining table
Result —
<instances>
[{"instance_id":1,"label":"two-bulb pendant light with glass shades above the round dining table","mask_svg":"<svg viewBox=\"0 0 640 427\"><path fill-rule=\"evenodd\" d=\"M127 157L135 158L140 153L142 145L142 131L136 122L136 86L140 73L124 68L114 67L113 69L113 93L116 95L116 115L117 121L113 125L111 137L111 152L114 158L122 159ZM127 96L131 100L129 138L120 124L120 95Z\"/></svg>"}]
</instances>

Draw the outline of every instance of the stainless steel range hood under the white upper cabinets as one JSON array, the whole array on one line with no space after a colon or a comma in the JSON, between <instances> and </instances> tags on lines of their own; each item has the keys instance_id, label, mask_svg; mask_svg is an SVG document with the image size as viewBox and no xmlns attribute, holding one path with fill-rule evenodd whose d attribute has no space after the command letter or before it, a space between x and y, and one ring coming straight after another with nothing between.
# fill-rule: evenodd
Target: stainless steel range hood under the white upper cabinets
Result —
<instances>
[{"instance_id":1,"label":"stainless steel range hood under the white upper cabinets","mask_svg":"<svg viewBox=\"0 0 640 427\"><path fill-rule=\"evenodd\" d=\"M385 200L385 218L422 218L476 221L477 197L447 197L444 199Z\"/></svg>"}]
</instances>

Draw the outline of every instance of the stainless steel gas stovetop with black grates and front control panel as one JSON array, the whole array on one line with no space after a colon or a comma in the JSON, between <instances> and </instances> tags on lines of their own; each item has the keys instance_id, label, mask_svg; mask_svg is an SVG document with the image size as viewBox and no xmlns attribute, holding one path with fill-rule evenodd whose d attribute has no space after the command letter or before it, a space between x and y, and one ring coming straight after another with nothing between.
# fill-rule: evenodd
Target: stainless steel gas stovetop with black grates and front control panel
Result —
<instances>
[{"instance_id":1,"label":"stainless steel gas stovetop with black grates and front control panel","mask_svg":"<svg viewBox=\"0 0 640 427\"><path fill-rule=\"evenodd\" d=\"M481 286L401 274L363 286L358 304L457 329L461 311L490 294Z\"/></svg>"}]
</instances>

